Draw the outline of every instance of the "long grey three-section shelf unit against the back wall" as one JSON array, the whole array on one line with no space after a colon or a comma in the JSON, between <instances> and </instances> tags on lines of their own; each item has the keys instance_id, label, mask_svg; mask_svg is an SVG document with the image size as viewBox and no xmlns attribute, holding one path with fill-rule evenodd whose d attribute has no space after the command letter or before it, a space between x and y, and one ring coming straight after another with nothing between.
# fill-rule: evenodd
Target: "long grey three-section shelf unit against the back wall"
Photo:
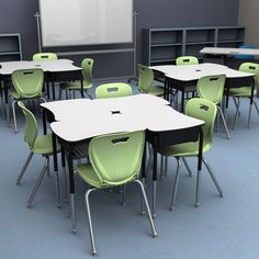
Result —
<instances>
[{"instance_id":1,"label":"long grey three-section shelf unit against the back wall","mask_svg":"<svg viewBox=\"0 0 259 259\"><path fill-rule=\"evenodd\" d=\"M201 58L203 47L238 47L244 38L243 26L143 29L143 64L174 64L184 55Z\"/></svg>"}]
</instances>

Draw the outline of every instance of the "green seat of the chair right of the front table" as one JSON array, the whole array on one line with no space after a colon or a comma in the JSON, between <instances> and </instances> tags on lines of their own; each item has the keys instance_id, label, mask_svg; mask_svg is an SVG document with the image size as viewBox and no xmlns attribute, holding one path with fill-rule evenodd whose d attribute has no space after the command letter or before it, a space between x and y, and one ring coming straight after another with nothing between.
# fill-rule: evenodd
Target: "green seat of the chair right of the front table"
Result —
<instances>
[{"instance_id":1,"label":"green seat of the chair right of the front table","mask_svg":"<svg viewBox=\"0 0 259 259\"><path fill-rule=\"evenodd\" d=\"M209 151L211 145L204 145L202 153ZM173 156L173 157L192 157L198 156L199 154L199 142L182 143L178 145L168 146L165 148L158 149L158 153L164 156Z\"/></svg>"}]
</instances>

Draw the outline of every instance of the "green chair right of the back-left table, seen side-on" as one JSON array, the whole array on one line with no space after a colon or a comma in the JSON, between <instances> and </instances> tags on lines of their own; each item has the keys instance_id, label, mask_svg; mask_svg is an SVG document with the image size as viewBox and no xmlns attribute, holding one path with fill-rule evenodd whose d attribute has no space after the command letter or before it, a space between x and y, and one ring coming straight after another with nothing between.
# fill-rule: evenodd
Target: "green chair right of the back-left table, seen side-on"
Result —
<instances>
[{"instance_id":1,"label":"green chair right of the back-left table, seen side-on","mask_svg":"<svg viewBox=\"0 0 259 259\"><path fill-rule=\"evenodd\" d=\"M92 88L92 68L93 68L93 59L91 58L85 58L81 63L81 68L82 68L82 76L83 76L83 92L92 99L92 97L89 94L88 90ZM63 90L66 90L66 97L68 98L67 92L69 93L74 91L74 97L75 97L75 91L81 91L81 82L80 81L70 81L70 82L65 82L60 85L59 88L59 99L61 99L61 92Z\"/></svg>"}]
</instances>

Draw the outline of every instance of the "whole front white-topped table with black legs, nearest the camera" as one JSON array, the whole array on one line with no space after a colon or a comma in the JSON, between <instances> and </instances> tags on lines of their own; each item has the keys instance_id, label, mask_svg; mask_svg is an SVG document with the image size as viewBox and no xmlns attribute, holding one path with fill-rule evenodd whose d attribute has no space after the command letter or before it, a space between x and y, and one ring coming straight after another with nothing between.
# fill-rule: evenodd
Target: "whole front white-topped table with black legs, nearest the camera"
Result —
<instances>
[{"instance_id":1,"label":"whole front white-topped table with black legs, nearest the camera","mask_svg":"<svg viewBox=\"0 0 259 259\"><path fill-rule=\"evenodd\" d=\"M153 214L155 215L157 182L157 148L194 142L200 137L198 170L201 170L203 121L174 111L165 99L149 94L136 94L112 99L76 99L42 103L44 113L50 122L54 150L55 137L65 148L69 167L70 206L72 230L75 221L75 182L72 169L72 149L92 137L128 131L146 131L146 138L154 147L154 194ZM56 153L54 168L57 170ZM145 177L145 156L142 167Z\"/></svg>"}]
</instances>

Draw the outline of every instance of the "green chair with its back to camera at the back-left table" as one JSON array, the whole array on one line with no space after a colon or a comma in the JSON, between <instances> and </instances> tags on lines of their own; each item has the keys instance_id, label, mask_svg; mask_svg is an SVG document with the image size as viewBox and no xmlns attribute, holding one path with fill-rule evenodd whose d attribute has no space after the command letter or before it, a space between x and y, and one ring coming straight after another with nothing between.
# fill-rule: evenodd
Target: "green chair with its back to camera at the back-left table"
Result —
<instances>
[{"instance_id":1,"label":"green chair with its back to camera at the back-left table","mask_svg":"<svg viewBox=\"0 0 259 259\"><path fill-rule=\"evenodd\" d=\"M40 99L46 102L43 98L44 72L40 68L20 69L12 72L12 83L14 91L11 92L13 98L12 113L14 132L18 132L15 103L19 100Z\"/></svg>"}]
</instances>

